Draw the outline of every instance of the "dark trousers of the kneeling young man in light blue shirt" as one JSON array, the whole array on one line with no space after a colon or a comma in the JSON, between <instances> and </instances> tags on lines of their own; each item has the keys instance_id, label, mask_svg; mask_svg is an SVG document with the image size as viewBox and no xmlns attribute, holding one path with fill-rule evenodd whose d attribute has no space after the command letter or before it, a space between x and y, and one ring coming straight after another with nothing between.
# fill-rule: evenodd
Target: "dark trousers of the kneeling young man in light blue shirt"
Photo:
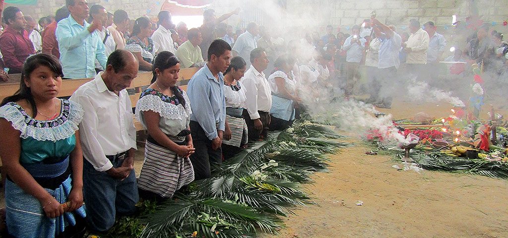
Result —
<instances>
[{"instance_id":1,"label":"dark trousers of the kneeling young man in light blue shirt","mask_svg":"<svg viewBox=\"0 0 508 238\"><path fill-rule=\"evenodd\" d=\"M212 149L212 141L206 137L205 131L196 121L190 121L190 135L196 151L190 155L190 162L194 167L194 179L206 179L211 176L211 165L220 165L222 149Z\"/></svg>"}]
</instances>

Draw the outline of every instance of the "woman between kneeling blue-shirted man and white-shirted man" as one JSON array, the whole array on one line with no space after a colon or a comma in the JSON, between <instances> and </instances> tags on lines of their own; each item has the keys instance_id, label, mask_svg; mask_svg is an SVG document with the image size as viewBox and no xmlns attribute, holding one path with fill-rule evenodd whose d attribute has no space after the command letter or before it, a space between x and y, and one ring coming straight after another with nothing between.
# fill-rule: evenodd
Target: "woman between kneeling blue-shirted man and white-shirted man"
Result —
<instances>
[{"instance_id":1,"label":"woman between kneeling blue-shirted man and white-shirted man","mask_svg":"<svg viewBox=\"0 0 508 238\"><path fill-rule=\"evenodd\" d=\"M247 124L242 117L245 108L245 88L240 79L245 73L247 63L242 57L231 59L228 70L224 72L224 96L226 97L226 131L222 143L223 155L229 159L247 145ZM229 139L229 140L228 140Z\"/></svg>"}]
</instances>

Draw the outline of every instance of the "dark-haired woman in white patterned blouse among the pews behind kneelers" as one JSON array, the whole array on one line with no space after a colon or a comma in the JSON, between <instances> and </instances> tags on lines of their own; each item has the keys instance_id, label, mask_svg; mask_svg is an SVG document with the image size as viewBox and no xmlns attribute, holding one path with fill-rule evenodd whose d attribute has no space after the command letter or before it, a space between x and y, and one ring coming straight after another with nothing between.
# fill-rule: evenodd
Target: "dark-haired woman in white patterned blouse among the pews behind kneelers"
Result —
<instances>
[{"instance_id":1,"label":"dark-haired woman in white patterned blouse among the pews behind kneelers","mask_svg":"<svg viewBox=\"0 0 508 238\"><path fill-rule=\"evenodd\" d=\"M140 71L151 71L153 57L157 52L156 46L150 36L152 23L148 17L140 17L134 23L131 37L125 43L125 50L131 51L139 61Z\"/></svg>"}]
</instances>

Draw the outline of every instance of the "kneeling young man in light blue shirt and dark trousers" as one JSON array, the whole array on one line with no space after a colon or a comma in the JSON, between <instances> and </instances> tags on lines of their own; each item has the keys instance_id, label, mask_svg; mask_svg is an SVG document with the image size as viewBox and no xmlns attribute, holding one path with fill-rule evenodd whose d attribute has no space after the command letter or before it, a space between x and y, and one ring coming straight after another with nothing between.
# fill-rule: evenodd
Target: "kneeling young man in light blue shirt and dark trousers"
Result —
<instances>
[{"instance_id":1,"label":"kneeling young man in light blue shirt and dark trousers","mask_svg":"<svg viewBox=\"0 0 508 238\"><path fill-rule=\"evenodd\" d=\"M226 129L224 75L231 60L231 46L215 40L208 48L208 62L189 81L187 95L193 114L190 132L196 152L190 155L196 180L210 177L210 164L220 164L220 148Z\"/></svg>"}]
</instances>

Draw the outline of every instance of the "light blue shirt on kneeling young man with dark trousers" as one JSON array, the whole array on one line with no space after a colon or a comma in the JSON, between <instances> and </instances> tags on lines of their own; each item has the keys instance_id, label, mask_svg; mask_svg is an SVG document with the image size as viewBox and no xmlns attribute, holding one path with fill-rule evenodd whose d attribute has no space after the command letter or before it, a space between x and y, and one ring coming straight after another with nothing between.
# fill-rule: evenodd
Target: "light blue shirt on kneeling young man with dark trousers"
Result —
<instances>
[{"instance_id":1,"label":"light blue shirt on kneeling young man with dark trousers","mask_svg":"<svg viewBox=\"0 0 508 238\"><path fill-rule=\"evenodd\" d=\"M224 131L226 128L224 75L219 72L218 76L219 79L215 79L207 64L187 85L187 96L192 105L190 120L199 123L209 140L217 138L217 129Z\"/></svg>"}]
</instances>

